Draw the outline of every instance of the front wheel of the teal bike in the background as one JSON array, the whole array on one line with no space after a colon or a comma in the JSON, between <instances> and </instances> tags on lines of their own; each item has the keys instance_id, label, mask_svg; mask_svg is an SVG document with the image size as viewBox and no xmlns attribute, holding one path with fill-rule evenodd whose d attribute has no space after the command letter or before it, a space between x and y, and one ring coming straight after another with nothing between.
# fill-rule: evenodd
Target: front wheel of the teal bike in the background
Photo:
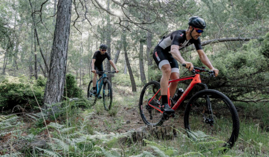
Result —
<instances>
[{"instance_id":1,"label":"front wheel of the teal bike in the background","mask_svg":"<svg viewBox=\"0 0 269 157\"><path fill-rule=\"evenodd\" d=\"M103 85L103 103L106 111L112 107L112 87L108 80L104 81Z\"/></svg>"}]
</instances>

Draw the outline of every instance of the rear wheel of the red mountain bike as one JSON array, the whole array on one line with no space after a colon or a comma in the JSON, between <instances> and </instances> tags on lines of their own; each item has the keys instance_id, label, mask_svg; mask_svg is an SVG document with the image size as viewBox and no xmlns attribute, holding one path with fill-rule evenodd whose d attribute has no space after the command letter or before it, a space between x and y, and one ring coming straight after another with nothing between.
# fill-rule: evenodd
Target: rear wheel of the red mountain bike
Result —
<instances>
[{"instance_id":1,"label":"rear wheel of the red mountain bike","mask_svg":"<svg viewBox=\"0 0 269 157\"><path fill-rule=\"evenodd\" d=\"M157 81L150 81L144 86L143 90L141 91L139 99L139 111L141 118L146 125L161 126L164 122L163 114L148 105L151 98L157 93L159 89L160 83L158 83ZM161 99L159 100L160 102L158 101L160 96L161 94L159 91L154 97L154 99L152 99L150 104L154 105L157 108L160 108Z\"/></svg>"}]
</instances>

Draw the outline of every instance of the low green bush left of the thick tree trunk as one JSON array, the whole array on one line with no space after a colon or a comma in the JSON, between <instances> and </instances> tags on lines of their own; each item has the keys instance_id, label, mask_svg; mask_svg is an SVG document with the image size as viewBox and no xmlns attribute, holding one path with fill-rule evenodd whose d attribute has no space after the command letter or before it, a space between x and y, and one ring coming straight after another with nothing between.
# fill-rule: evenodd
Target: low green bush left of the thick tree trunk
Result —
<instances>
[{"instance_id":1,"label":"low green bush left of the thick tree trunk","mask_svg":"<svg viewBox=\"0 0 269 157\"><path fill-rule=\"evenodd\" d=\"M35 80L29 81L30 83L23 78L6 77L0 83L0 108L8 110L19 105L23 109L33 109L35 106L38 106L37 102L42 104L44 86L42 87L42 84L36 83Z\"/></svg>"}]
</instances>

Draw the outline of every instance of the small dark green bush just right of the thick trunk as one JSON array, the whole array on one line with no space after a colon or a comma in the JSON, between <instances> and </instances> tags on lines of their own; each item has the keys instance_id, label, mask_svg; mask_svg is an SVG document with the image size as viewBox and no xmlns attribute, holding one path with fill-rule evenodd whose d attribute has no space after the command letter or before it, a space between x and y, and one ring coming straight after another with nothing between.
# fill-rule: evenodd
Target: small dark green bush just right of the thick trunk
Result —
<instances>
[{"instance_id":1,"label":"small dark green bush just right of the thick trunk","mask_svg":"<svg viewBox=\"0 0 269 157\"><path fill-rule=\"evenodd\" d=\"M75 76L72 74L66 75L66 85L64 95L67 97L78 97L82 98L83 93L82 90L77 86L77 81L75 80Z\"/></svg>"}]
</instances>

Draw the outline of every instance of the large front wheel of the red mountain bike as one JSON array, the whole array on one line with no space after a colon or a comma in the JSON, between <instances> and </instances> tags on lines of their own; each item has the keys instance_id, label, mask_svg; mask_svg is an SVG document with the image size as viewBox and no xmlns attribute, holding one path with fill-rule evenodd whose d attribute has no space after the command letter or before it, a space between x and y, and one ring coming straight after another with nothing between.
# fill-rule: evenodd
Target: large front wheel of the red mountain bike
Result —
<instances>
[{"instance_id":1,"label":"large front wheel of the red mountain bike","mask_svg":"<svg viewBox=\"0 0 269 157\"><path fill-rule=\"evenodd\" d=\"M212 112L208 110L208 104L211 104ZM226 95L217 90L201 90L187 104L184 125L190 137L193 137L192 132L202 131L208 137L223 140L225 143L215 143L214 148L225 147L225 151L236 142L240 124L236 108Z\"/></svg>"}]
</instances>

